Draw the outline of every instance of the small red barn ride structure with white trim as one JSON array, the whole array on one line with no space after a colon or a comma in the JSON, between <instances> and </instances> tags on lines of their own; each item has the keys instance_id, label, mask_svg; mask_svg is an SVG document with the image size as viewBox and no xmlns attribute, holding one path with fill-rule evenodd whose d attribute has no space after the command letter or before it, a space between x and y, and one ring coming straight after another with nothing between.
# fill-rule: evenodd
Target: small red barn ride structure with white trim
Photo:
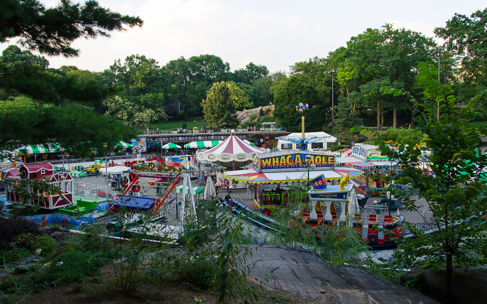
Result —
<instances>
[{"instance_id":1,"label":"small red barn ride structure with white trim","mask_svg":"<svg viewBox=\"0 0 487 304\"><path fill-rule=\"evenodd\" d=\"M67 172L54 171L54 166L47 162L35 165L22 164L19 168L12 169L5 175L6 200L14 204L25 206L38 206L41 209L53 210L73 204L73 178ZM48 180L53 186L59 187L57 193L49 193L45 189L35 189L29 179ZM24 185L26 190L37 195L36 198L20 197L13 191L14 185Z\"/></svg>"}]
</instances>

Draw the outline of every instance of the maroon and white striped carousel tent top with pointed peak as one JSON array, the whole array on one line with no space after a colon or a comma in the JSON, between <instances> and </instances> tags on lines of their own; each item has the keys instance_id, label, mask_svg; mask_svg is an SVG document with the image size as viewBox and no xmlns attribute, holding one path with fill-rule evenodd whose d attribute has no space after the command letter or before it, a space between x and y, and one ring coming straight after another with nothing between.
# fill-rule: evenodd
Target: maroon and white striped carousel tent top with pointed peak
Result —
<instances>
[{"instance_id":1,"label":"maroon and white striped carousel tent top with pointed peak","mask_svg":"<svg viewBox=\"0 0 487 304\"><path fill-rule=\"evenodd\" d=\"M254 155L268 151L253 147L238 138L234 130L232 134L219 145L196 153L198 161L215 162L227 168L240 168L250 163Z\"/></svg>"}]
</instances>

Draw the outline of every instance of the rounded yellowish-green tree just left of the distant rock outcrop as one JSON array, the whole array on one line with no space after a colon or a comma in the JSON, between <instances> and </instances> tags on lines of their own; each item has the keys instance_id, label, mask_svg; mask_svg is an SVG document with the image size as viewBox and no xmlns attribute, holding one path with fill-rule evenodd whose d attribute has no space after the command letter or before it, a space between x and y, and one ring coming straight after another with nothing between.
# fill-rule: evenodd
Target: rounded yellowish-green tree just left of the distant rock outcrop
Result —
<instances>
[{"instance_id":1,"label":"rounded yellowish-green tree just left of the distant rock outcrop","mask_svg":"<svg viewBox=\"0 0 487 304\"><path fill-rule=\"evenodd\" d=\"M201 103L206 123L212 127L237 124L232 93L224 81L215 82Z\"/></svg>"}]
</instances>

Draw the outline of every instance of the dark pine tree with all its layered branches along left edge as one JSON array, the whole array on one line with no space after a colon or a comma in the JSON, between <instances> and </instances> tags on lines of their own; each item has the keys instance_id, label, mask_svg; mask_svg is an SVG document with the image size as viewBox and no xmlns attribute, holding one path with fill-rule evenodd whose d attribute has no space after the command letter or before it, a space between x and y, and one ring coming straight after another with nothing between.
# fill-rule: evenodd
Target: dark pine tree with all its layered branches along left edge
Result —
<instances>
[{"instance_id":1,"label":"dark pine tree with all its layered branches along left edge","mask_svg":"<svg viewBox=\"0 0 487 304\"><path fill-rule=\"evenodd\" d=\"M71 43L76 38L109 36L113 30L141 24L139 18L112 13L95 1L80 6L63 0L56 8L45 9L35 0L6 0L0 11L0 42L18 37L21 45L41 54L74 56L78 50ZM89 77L50 72L47 65L38 64L42 58L37 57L35 64L24 60L28 53L21 52L19 60L11 60L11 51L15 50L9 48L0 62L0 89L8 91L0 102L1 146L14 141L57 142L86 155L92 148L112 149L118 140L134 135L133 129L116 119L78 104L100 103L114 92L112 88ZM21 95L30 97L33 105L23 103ZM19 105L9 107L12 102Z\"/></svg>"}]
</instances>

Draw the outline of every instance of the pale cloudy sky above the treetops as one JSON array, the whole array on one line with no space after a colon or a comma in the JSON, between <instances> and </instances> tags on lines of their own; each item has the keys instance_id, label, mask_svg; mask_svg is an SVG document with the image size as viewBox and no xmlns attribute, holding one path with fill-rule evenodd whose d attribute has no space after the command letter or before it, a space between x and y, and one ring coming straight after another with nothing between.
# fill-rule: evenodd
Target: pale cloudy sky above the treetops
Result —
<instances>
[{"instance_id":1,"label":"pale cloudy sky above the treetops","mask_svg":"<svg viewBox=\"0 0 487 304\"><path fill-rule=\"evenodd\" d=\"M81 0L82 1L82 0ZM46 7L59 1L40 0ZM213 54L232 71L249 62L272 72L296 62L326 57L352 36L386 23L434 37L455 13L470 16L486 8L480 0L98 0L124 15L139 16L141 28L111 37L78 39L76 58L49 57L51 68L74 65L100 72L131 54L154 58L160 66L181 56ZM8 43L0 45L3 51Z\"/></svg>"}]
</instances>

